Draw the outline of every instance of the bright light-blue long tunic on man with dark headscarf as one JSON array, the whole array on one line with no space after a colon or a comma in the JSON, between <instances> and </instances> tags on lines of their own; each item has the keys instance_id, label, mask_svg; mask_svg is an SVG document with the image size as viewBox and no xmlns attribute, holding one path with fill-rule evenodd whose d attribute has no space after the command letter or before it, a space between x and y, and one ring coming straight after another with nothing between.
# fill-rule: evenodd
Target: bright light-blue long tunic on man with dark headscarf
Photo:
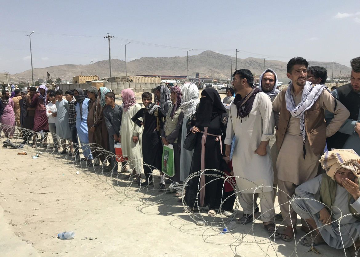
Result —
<instances>
[{"instance_id":1,"label":"bright light-blue long tunic on man with dark headscarf","mask_svg":"<svg viewBox=\"0 0 360 257\"><path fill-rule=\"evenodd\" d=\"M87 136L87 111L89 109L89 99L85 98L82 102L82 120L80 116L80 104L75 105L76 112L76 129L77 135L82 148L82 153L87 159L92 160L93 155L91 155L90 146L89 146L89 137Z\"/></svg>"}]
</instances>

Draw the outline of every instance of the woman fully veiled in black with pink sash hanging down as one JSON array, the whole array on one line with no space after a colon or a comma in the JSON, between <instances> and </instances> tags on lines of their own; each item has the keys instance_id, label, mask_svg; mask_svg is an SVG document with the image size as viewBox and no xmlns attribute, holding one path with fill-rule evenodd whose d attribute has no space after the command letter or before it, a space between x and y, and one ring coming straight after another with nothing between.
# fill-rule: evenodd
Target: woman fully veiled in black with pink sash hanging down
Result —
<instances>
[{"instance_id":1,"label":"woman fully veiled in black with pink sash hanging down","mask_svg":"<svg viewBox=\"0 0 360 257\"><path fill-rule=\"evenodd\" d=\"M222 161L220 136L226 134L228 114L215 89L206 88L201 92L198 110L190 122L192 125L190 130L197 133L190 175L205 169L214 169L206 171L206 174L220 175L215 170L220 170ZM188 186L185 188L186 204L191 210L198 206L208 206L208 215L215 215L215 208L220 207L223 183L222 179L216 179L213 176L194 177L188 181ZM206 186L202 188L202 185Z\"/></svg>"}]
</instances>

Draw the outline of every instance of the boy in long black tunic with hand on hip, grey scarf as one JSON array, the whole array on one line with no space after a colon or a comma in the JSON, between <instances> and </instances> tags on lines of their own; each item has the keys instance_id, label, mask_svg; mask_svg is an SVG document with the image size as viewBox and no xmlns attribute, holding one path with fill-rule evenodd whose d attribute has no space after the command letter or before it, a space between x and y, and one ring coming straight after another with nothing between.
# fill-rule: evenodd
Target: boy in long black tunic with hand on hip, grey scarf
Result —
<instances>
[{"instance_id":1,"label":"boy in long black tunic with hand on hip, grey scarf","mask_svg":"<svg viewBox=\"0 0 360 257\"><path fill-rule=\"evenodd\" d=\"M167 89L166 89L167 90ZM160 183L164 181L163 173L161 172L161 159L162 159L162 141L160 139L160 128L166 118L166 112L159 108L160 106L152 103L152 94L145 92L141 95L141 99L145 108L141 108L134 117L131 118L136 125L144 126L142 137L142 151L144 162L144 173L146 177L145 183L139 186L152 185L152 170L153 168L160 171ZM143 120L139 120L142 118ZM160 185L161 186L161 185Z\"/></svg>"}]
</instances>

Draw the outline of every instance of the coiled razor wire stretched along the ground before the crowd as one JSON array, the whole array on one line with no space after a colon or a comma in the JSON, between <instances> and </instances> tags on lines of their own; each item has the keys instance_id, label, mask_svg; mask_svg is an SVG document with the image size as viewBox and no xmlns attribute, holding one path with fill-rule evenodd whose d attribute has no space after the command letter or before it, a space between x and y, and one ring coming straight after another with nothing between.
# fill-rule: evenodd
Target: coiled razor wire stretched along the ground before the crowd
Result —
<instances>
[{"instance_id":1,"label":"coiled razor wire stretched along the ground before the crowd","mask_svg":"<svg viewBox=\"0 0 360 257\"><path fill-rule=\"evenodd\" d=\"M60 150L58 149L58 147L60 147L60 149L62 148L62 140L68 141L67 139L63 139L63 138L59 138L57 136L57 144L55 144L53 147L50 147L50 143L44 143L44 139L47 138L47 141L50 142L50 137L53 136L53 133L50 132L44 132L44 137L40 137L39 139L39 133L34 132L32 130L28 130L25 128L18 128L17 126L9 126L6 125L4 126L4 124L0 124L0 127L2 127L3 129L5 128L7 132L10 132L8 134L11 134L11 132L13 132L13 137L12 138L8 138L7 140L4 140L3 142L3 148L18 148L18 149L29 149L29 150L33 150L38 157L46 157L49 159L53 159L56 162L61 162L64 165L68 165L72 168L75 168L77 171L82 172L83 174L85 174L86 176L89 176L91 179L98 180L101 183L106 183L108 184L112 189L114 189L114 191L116 191L117 195L116 195L116 199L114 199L114 195L111 196L112 199L119 201L121 204L124 205L128 205L128 206L135 206L137 211L141 211L143 213L144 209L147 207L151 207L151 206L156 206L156 205L161 205L164 204L166 205L167 201L170 201L171 199L174 199L173 195L171 194L171 196L169 196L170 194L166 193L167 191L174 193L176 191L180 191L182 192L181 194L181 202L182 205L184 207L184 211L185 213L187 213L187 215L190 217L191 222L187 222L187 225L191 225L191 224L197 224L198 221L203 221L204 226L195 226L194 229L194 225L191 226L191 228L189 230L183 230L180 229L180 231L185 232L185 233L190 233L191 231L197 230L197 229L202 229L203 233L202 233L202 237L204 239L204 242L207 243L211 243L211 244L219 244L219 245L228 245L230 246L231 250L234 252L234 254L242 254L243 251L241 251L241 247L258 247L263 253L264 256L278 256L278 249L277 247L279 247L279 242L280 243L284 243L281 239L281 241L276 242L275 238L273 236L259 236L257 235L256 231L254 230L254 226L259 226L262 224L258 224L258 223L262 223L261 221L261 217L264 213L260 214L259 216L255 216L255 210L253 209L253 221L251 222L251 226L247 226L247 225L238 225L237 228L235 229L228 229L228 232L226 234L229 234L231 236L226 236L224 238L224 236L221 236L221 238L219 238L219 233L221 232L222 228L228 228L230 222L234 222L235 217L237 216L237 213L239 211L240 207L240 198L241 198L241 193L244 191L248 191L248 190L253 190L254 193L252 193L252 199L253 202L254 200L256 200L256 196L255 194L259 194L259 196L261 195L261 193L255 193L255 191L260 190L260 192L262 192L263 189L265 188L270 188L271 190L274 190L275 188L272 186L263 186L263 185L256 185L255 182L248 180L244 177L239 177L239 176L228 176L226 175L226 173L224 173L223 171L220 170L214 170L214 169L206 169L206 170L202 170L202 171L198 171L198 172L194 172L191 173L186 180L183 182L183 185L179 185L179 183L172 181L171 177L167 177L168 181L166 182L166 184L170 184L170 186L165 190L165 191L158 191L158 189L156 188L156 183L155 180L159 181L159 177L160 172L153 166L150 166L146 163L144 163L143 161L141 161L141 159L133 159L130 156L127 155L123 155L122 157L127 157L127 161L126 162L118 162L118 172L114 171L114 167L110 166L111 163L111 158L117 158L116 154L109 152L107 150L104 150L100 145L97 144L86 144L86 145L81 145L81 143L79 142L78 145L73 144L73 152L71 153L70 151L66 151L65 154L61 154ZM3 131L0 131L0 135L3 134ZM34 135L36 135L34 137ZM9 135L8 135L9 136ZM1 138L3 138L3 136L1 136ZM31 141L35 138L35 141L32 142ZM60 144L59 144L60 142ZM68 148L68 145L66 145ZM76 147L74 147L76 146ZM64 150L64 149L63 149ZM97 163L93 160L90 161L86 161L86 157L84 155L84 152L86 152L87 150L90 150L90 153L96 153L95 155L97 156L97 158L99 158L99 156L102 156L103 158L103 162L101 165L97 165ZM36 155L35 155L36 157ZM191 161L191 160L189 160ZM85 164L84 164L85 163ZM109 164L108 164L109 163ZM135 169L135 175L132 176L132 170L130 171L130 176L127 176L125 178L125 174L122 172L122 170L126 167L124 165L128 165L129 167L133 167L133 169ZM150 184L145 184L145 181L143 181L143 176L144 173L139 173L138 171L144 172L144 169L141 169L141 166L148 166L150 168L150 170L152 170L152 185ZM136 168L138 167L138 168ZM206 176L208 178L210 178L210 181L206 182L203 186L200 186L200 177L201 176ZM236 182L234 182L233 178L235 178L235 180L247 180L248 182L253 184L253 188L250 189L244 189L244 190L240 190L236 184ZM136 179L136 180L134 180ZM197 194L196 194L196 198L195 198L195 205L193 208L189 207L186 204L185 201L185 195L186 193L186 186L188 186L189 181L192 179L198 179L198 185L197 185ZM200 191L202 189L205 189L206 186L208 184L210 184L213 181L217 181L218 180L218 186L221 187L221 203L220 203L220 207L219 209L217 209L216 215L210 217L210 216L204 216L203 214L206 212L206 208L202 207L199 205L198 202L198 198L200 195ZM135 184L136 181L139 181L139 186ZM231 185L231 188L233 189L233 193L231 193L230 195L228 195L227 197L224 198L224 186L225 186L225 182L228 182ZM134 186L137 186L137 188L135 188L134 190ZM267 189L269 190L269 189ZM282 191L280 189L278 189L278 191ZM282 191L283 193L285 193L284 191ZM235 197L235 201L234 201L234 208L233 208L233 212L229 217L226 217L224 215L221 214L222 212L222 205L225 203L226 200L230 199L230 197ZM293 202L296 200L294 197L289 196L290 200L286 203L283 204L289 204L289 213L288 215L290 215L290 210L291 210L291 206L293 204ZM299 199L299 198L298 198ZM300 198L300 199L306 199L306 200L311 200L311 201L315 201L315 202L319 202L318 200L312 199L312 198ZM140 205L139 205L140 204ZM323 204L323 203L321 203ZM261 205L260 205L261 207ZM279 205L274 206L273 209L279 207ZM333 208L337 208L336 206L333 206L330 210L332 210ZM269 209L266 212L272 211L273 209ZM216 209L215 209L216 210ZM330 216L332 215L332 211L330 212ZM337 224L337 227L341 227L342 223L341 220L347 216L351 216L351 214L347 214L347 215L342 215L341 217L339 217L336 220L333 220L332 222L330 222L330 224ZM179 217L180 219L180 217ZM184 218L182 218L183 221ZM273 220L275 221L275 217L273 217ZM257 222L260 221L260 222ZM280 224L276 224L275 226L275 232L278 231L279 229L279 225L283 225L283 222L281 222ZM309 225L309 224L308 224ZM185 225L182 225L185 226ZM323 226L319 226L318 229L321 230L323 227L328 226L328 225L323 225ZM294 230L294 226L293 226L293 234L294 234L294 245L293 245L293 251L291 253L290 256L307 256L307 252L311 251L317 254L321 254L314 246L311 245L309 251L298 251L298 245L301 243L301 240L303 238L311 238L311 241L313 241L312 239L315 238L318 234L316 232L316 229L312 229L311 230L311 226L309 225L309 232L305 233L305 235L301 236L300 238L296 237L295 234L295 230ZM242 232L239 231L239 228L242 229ZM350 231L348 231L350 234ZM340 233L341 236L341 243L342 245L344 245L344 241L342 238L342 234ZM259 239L259 237L261 237L261 239ZM212 238L216 238L216 241L211 241ZM221 239L221 240L219 240ZM225 242L224 242L224 239ZM355 246L355 240L350 236L350 240L352 245ZM357 239L359 240L359 239ZM289 242L291 243L291 242ZM292 244L292 243L291 243ZM343 253L345 254L345 256L350 256L350 254L347 253L345 247L341 248L343 250ZM240 252L241 251L241 252ZM325 251L333 251L333 248L328 247L328 249L326 249ZM300 253L299 253L300 252ZM357 252L356 252L356 255Z\"/></svg>"}]
</instances>

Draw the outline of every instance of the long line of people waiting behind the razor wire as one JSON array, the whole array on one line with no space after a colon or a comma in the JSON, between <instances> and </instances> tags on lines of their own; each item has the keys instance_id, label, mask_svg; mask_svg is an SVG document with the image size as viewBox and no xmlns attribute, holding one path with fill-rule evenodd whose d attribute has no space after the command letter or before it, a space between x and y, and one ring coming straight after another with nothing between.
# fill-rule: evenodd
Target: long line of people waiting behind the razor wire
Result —
<instances>
[{"instance_id":1,"label":"long line of people waiting behind the razor wire","mask_svg":"<svg viewBox=\"0 0 360 257\"><path fill-rule=\"evenodd\" d=\"M130 172L125 178L140 187L153 185L153 170L159 170L159 191L166 190L163 149L171 145L175 175L170 180L186 181L184 190L175 192L184 199L184 213L208 207L209 216L231 216L238 194L240 225L260 211L269 236L289 242L299 215L301 230L309 233L301 244L349 248L355 256L360 246L360 57L351 60L351 82L332 92L324 85L326 69L309 67L301 57L288 62L287 76L291 83L279 90L269 68L253 87L251 71L236 70L224 99L212 87L199 99L195 84L170 91L161 85L154 99L149 92L141 95L143 108L131 89L121 91L121 105L106 87L89 87L87 98L80 88L64 94L41 85L37 93L35 87L16 89L13 97L4 90L1 130L11 139L16 124L22 144L33 147L39 135L47 147L50 134L54 152L77 159L82 148L80 161L96 166L109 159L114 172L121 162L119 172ZM126 159L116 156L118 143ZM277 205L281 213L275 214ZM282 231L275 219L285 225Z\"/></svg>"}]
</instances>

